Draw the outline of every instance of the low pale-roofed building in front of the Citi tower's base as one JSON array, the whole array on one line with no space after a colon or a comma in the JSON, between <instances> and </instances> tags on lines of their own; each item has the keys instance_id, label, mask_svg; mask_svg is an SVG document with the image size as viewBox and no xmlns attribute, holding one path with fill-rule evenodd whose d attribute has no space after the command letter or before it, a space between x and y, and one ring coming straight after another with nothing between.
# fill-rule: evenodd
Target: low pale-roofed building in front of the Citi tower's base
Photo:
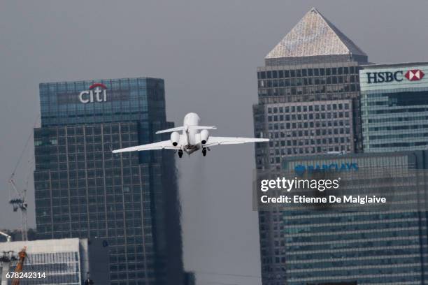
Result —
<instances>
[{"instance_id":1,"label":"low pale-roofed building in front of the Citi tower's base","mask_svg":"<svg viewBox=\"0 0 428 285\"><path fill-rule=\"evenodd\" d=\"M19 253L25 252L21 284L110 284L108 244L104 240L67 238L1 242L1 285L11 284Z\"/></svg>"}]
</instances>

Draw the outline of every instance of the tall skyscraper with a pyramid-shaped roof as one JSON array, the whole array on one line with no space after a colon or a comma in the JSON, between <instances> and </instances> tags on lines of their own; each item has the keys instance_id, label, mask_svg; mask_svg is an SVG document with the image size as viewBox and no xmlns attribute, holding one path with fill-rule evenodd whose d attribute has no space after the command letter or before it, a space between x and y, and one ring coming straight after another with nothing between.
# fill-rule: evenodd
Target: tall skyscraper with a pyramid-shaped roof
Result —
<instances>
[{"instance_id":1,"label":"tall skyscraper with a pyramid-shaped roof","mask_svg":"<svg viewBox=\"0 0 428 285\"><path fill-rule=\"evenodd\" d=\"M361 152L359 65L367 55L312 8L257 68L253 106L257 170L283 159L327 152ZM262 282L286 282L283 215L259 212Z\"/></svg>"}]
</instances>

